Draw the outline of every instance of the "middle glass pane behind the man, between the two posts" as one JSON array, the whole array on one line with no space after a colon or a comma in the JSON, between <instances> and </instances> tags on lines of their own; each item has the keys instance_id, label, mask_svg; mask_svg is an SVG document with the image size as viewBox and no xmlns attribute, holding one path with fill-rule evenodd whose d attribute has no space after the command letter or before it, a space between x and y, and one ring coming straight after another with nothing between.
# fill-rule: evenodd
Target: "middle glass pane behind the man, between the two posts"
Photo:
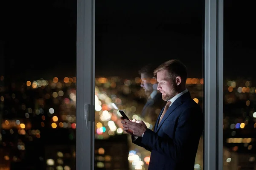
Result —
<instances>
[{"instance_id":1,"label":"middle glass pane behind the man, between the two posts","mask_svg":"<svg viewBox=\"0 0 256 170\"><path fill-rule=\"evenodd\" d=\"M139 74L143 66L156 68L179 59L188 70L186 88L203 108L203 20L204 1L96 0L95 169L148 169L151 153L132 143L118 112L124 110L130 119L143 120L154 129L166 102L156 90L153 70L149 76ZM148 88L141 85L143 78ZM155 96L151 105L149 97ZM196 170L203 169L203 155L201 137Z\"/></svg>"}]
</instances>

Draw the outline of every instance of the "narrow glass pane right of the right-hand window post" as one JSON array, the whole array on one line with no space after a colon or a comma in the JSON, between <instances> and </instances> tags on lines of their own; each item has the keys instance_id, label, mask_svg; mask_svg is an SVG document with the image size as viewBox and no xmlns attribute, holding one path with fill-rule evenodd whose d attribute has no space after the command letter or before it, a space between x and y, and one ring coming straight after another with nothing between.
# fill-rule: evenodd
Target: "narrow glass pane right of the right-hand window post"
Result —
<instances>
[{"instance_id":1,"label":"narrow glass pane right of the right-hand window post","mask_svg":"<svg viewBox=\"0 0 256 170\"><path fill-rule=\"evenodd\" d=\"M224 1L224 170L256 168L254 16L250 4Z\"/></svg>"}]
</instances>

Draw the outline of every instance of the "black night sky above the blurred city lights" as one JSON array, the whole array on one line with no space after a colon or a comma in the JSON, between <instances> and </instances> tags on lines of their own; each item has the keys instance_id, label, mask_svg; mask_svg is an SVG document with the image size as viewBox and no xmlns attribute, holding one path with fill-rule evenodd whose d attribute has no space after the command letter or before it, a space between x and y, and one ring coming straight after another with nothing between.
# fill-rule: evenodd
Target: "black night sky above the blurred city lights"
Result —
<instances>
[{"instance_id":1,"label":"black night sky above the blurred city lights","mask_svg":"<svg viewBox=\"0 0 256 170\"><path fill-rule=\"evenodd\" d=\"M253 6L231 0L224 5L224 77L255 78ZM5 75L15 79L76 75L76 2L1 2L0 12ZM96 0L96 77L136 77L146 63L180 59L189 77L200 78L203 50L202 0Z\"/></svg>"}]
</instances>

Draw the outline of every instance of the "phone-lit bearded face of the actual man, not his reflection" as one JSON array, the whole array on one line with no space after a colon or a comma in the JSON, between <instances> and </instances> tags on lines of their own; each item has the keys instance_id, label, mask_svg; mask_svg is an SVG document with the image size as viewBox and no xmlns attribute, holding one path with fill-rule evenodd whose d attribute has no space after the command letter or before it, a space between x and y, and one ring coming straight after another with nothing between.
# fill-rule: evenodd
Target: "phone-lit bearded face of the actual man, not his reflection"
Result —
<instances>
[{"instance_id":1,"label":"phone-lit bearded face of the actual man, not his reflection","mask_svg":"<svg viewBox=\"0 0 256 170\"><path fill-rule=\"evenodd\" d=\"M157 90L162 94L164 101L172 99L177 94L177 83L173 81L168 76L166 70L161 70L157 72Z\"/></svg>"}]
</instances>

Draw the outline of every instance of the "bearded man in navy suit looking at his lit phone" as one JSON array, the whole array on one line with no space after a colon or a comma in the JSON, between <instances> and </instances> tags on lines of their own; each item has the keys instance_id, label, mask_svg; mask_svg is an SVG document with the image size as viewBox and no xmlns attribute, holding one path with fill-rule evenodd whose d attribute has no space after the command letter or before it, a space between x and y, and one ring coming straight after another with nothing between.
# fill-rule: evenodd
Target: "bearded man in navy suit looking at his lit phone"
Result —
<instances>
[{"instance_id":1,"label":"bearded man in navy suit looking at his lit phone","mask_svg":"<svg viewBox=\"0 0 256 170\"><path fill-rule=\"evenodd\" d=\"M151 151L148 170L193 170L204 116L186 89L186 66L169 60L154 74L157 90L167 101L154 131L135 119L122 120L123 130L132 134L135 144Z\"/></svg>"}]
</instances>

